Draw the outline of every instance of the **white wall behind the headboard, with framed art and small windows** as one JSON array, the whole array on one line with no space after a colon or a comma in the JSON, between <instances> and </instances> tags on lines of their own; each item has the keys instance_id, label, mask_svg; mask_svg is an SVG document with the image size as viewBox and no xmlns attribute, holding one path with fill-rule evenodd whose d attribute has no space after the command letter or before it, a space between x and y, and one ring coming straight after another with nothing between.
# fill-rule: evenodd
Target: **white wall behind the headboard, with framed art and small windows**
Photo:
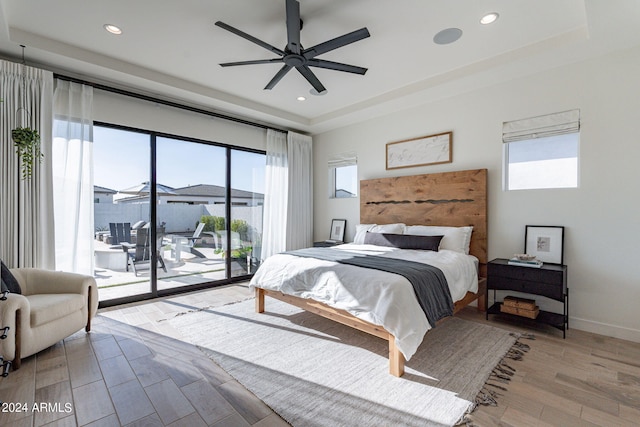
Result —
<instances>
[{"instance_id":1,"label":"white wall behind the headboard, with framed art and small windows","mask_svg":"<svg viewBox=\"0 0 640 427\"><path fill-rule=\"evenodd\" d=\"M328 238L332 218L347 219L347 240L358 223L359 199L327 196L337 153L358 153L360 179L487 168L490 259L522 252L527 224L565 226L570 327L640 342L638 76L634 48L315 136L315 239ZM579 188L503 191L502 122L573 108ZM387 142L449 130L453 163L385 170Z\"/></svg>"}]
</instances>

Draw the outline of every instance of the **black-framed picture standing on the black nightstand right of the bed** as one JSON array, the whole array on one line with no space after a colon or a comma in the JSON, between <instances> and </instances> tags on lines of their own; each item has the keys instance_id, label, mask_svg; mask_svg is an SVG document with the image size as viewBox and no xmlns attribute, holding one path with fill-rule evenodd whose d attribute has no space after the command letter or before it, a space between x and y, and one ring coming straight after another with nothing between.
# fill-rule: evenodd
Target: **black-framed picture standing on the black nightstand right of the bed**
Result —
<instances>
[{"instance_id":1,"label":"black-framed picture standing on the black nightstand right of the bed","mask_svg":"<svg viewBox=\"0 0 640 427\"><path fill-rule=\"evenodd\" d=\"M564 264L564 227L527 225L524 251L549 264Z\"/></svg>"}]
</instances>

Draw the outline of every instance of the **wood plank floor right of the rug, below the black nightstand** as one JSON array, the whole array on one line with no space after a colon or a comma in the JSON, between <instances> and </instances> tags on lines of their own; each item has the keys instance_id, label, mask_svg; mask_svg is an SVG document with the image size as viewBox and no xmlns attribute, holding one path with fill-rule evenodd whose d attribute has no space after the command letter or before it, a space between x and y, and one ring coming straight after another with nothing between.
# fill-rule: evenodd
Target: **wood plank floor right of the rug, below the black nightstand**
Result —
<instances>
[{"instance_id":1,"label":"wood plank floor right of the rug, below the black nightstand","mask_svg":"<svg viewBox=\"0 0 640 427\"><path fill-rule=\"evenodd\" d=\"M575 329L562 332L530 321L512 321L466 308L460 317L519 332L531 349L498 406L479 406L477 426L639 426L640 343Z\"/></svg>"}]
</instances>

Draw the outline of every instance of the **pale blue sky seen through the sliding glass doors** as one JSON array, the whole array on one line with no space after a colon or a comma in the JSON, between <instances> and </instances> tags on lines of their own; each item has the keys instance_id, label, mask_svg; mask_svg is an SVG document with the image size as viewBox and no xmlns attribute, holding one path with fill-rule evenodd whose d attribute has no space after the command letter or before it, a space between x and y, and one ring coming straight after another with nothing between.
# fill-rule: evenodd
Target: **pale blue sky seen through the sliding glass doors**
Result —
<instances>
[{"instance_id":1,"label":"pale blue sky seen through the sliding glass doors","mask_svg":"<svg viewBox=\"0 0 640 427\"><path fill-rule=\"evenodd\" d=\"M147 134L94 126L94 184L123 190L150 181ZM231 187L264 193L265 156L231 151ZM157 139L157 182L173 188L225 185L225 149L176 139Z\"/></svg>"}]
</instances>

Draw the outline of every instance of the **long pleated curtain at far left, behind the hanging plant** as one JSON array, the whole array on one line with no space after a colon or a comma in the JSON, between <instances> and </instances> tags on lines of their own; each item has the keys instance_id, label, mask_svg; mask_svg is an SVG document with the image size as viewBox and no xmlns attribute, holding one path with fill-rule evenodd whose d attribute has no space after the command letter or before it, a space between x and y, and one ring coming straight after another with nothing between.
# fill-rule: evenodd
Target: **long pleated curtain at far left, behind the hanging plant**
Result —
<instances>
[{"instance_id":1,"label":"long pleated curtain at far left, behind the hanging plant","mask_svg":"<svg viewBox=\"0 0 640 427\"><path fill-rule=\"evenodd\" d=\"M53 73L0 60L0 258L9 267L53 268L51 103ZM42 162L23 180L11 130L40 134Z\"/></svg>"}]
</instances>

